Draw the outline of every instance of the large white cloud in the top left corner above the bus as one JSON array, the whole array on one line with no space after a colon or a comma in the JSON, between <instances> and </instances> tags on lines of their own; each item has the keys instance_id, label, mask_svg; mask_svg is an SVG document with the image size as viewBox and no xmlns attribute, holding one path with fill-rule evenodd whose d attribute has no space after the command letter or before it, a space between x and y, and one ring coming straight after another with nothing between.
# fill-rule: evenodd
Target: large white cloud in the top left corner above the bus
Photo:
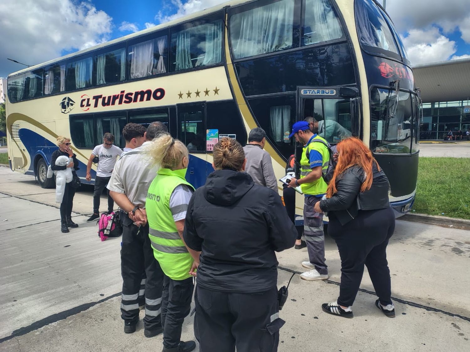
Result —
<instances>
[{"instance_id":1,"label":"large white cloud in the top left corner above the bus","mask_svg":"<svg viewBox=\"0 0 470 352\"><path fill-rule=\"evenodd\" d=\"M88 1L0 1L0 76L109 40L112 18Z\"/></svg>"}]
</instances>

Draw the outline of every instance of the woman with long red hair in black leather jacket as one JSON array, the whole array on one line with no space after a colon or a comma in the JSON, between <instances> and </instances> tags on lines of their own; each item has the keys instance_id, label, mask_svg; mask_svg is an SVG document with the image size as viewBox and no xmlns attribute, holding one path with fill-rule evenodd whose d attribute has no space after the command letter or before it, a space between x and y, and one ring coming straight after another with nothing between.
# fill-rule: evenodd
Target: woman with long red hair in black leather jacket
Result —
<instances>
[{"instance_id":1,"label":"woman with long red hair in black leather jacket","mask_svg":"<svg viewBox=\"0 0 470 352\"><path fill-rule=\"evenodd\" d=\"M315 212L328 212L328 233L341 257L339 297L321 305L329 314L352 318L364 265L378 296L376 306L394 317L386 248L395 230L388 200L389 182L366 145L347 138L337 145L338 162L323 200Z\"/></svg>"}]
</instances>

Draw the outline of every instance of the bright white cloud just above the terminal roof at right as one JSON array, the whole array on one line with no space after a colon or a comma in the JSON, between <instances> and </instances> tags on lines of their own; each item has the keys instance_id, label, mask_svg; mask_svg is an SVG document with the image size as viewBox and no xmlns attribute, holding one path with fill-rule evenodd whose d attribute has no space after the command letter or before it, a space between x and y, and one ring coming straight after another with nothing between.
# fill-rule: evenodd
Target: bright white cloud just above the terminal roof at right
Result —
<instances>
[{"instance_id":1,"label":"bright white cloud just above the terminal roof at right","mask_svg":"<svg viewBox=\"0 0 470 352\"><path fill-rule=\"evenodd\" d=\"M455 42L442 35L436 27L427 31L410 30L408 36L403 38L403 44L413 65L445 61L457 51Z\"/></svg>"}]
</instances>

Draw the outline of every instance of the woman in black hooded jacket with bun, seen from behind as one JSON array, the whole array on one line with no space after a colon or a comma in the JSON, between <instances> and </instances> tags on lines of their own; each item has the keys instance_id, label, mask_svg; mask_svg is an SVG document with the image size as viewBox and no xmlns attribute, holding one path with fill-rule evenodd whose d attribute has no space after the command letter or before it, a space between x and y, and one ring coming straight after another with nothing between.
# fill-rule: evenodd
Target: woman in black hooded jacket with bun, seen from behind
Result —
<instances>
[{"instance_id":1,"label":"woman in black hooded jacket with bun, seen from behind","mask_svg":"<svg viewBox=\"0 0 470 352\"><path fill-rule=\"evenodd\" d=\"M204 352L277 351L277 259L297 231L279 195L241 172L242 146L222 138L215 171L188 205L184 240L202 251L197 269L195 335Z\"/></svg>"}]
</instances>

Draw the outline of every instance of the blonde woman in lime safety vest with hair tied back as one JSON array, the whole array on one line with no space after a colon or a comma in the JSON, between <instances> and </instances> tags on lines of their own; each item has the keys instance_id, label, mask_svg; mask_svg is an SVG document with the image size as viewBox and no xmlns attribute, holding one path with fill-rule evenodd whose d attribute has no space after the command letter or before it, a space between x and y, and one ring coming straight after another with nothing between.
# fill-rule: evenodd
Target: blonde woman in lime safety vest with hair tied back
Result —
<instances>
[{"instance_id":1,"label":"blonde woman in lime safety vest with hair tied back","mask_svg":"<svg viewBox=\"0 0 470 352\"><path fill-rule=\"evenodd\" d=\"M188 248L182 237L194 191L185 179L188 149L180 140L164 134L155 138L145 151L154 165L161 165L150 184L145 208L153 253L165 274L161 310L163 352L188 352L196 348L196 343L180 341L181 327L193 296L190 273L199 265L200 254Z\"/></svg>"}]
</instances>

